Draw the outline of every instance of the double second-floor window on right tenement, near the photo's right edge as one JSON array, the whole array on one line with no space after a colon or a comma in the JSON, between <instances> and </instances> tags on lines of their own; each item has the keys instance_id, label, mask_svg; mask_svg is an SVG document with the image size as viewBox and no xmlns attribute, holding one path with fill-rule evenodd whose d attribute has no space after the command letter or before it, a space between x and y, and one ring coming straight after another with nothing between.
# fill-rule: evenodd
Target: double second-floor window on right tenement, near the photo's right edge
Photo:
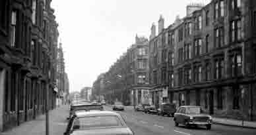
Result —
<instances>
[{"instance_id":1,"label":"double second-floor window on right tenement, near the photo's right edge","mask_svg":"<svg viewBox=\"0 0 256 135\"><path fill-rule=\"evenodd\" d=\"M230 41L240 41L241 40L241 20L234 20L230 24Z\"/></svg>"}]
</instances>

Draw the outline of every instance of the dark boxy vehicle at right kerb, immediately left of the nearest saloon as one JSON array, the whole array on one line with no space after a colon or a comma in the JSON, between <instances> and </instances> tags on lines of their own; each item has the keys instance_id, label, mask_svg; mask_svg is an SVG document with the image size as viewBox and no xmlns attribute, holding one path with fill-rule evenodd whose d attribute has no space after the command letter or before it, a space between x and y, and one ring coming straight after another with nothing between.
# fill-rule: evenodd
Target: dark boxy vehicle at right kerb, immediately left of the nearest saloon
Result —
<instances>
[{"instance_id":1,"label":"dark boxy vehicle at right kerb, immediately left of the nearest saloon","mask_svg":"<svg viewBox=\"0 0 256 135\"><path fill-rule=\"evenodd\" d=\"M164 103L161 104L158 109L158 115L168 115L169 117L172 115L174 116L174 113L176 112L176 105L170 104L170 103Z\"/></svg>"}]
</instances>

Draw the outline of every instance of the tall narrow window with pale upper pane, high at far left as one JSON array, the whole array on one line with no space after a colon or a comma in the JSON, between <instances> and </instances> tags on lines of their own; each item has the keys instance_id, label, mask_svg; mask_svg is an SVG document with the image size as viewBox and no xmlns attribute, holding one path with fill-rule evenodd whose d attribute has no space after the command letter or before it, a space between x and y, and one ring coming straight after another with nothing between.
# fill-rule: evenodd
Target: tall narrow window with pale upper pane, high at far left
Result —
<instances>
[{"instance_id":1,"label":"tall narrow window with pale upper pane, high at far left","mask_svg":"<svg viewBox=\"0 0 256 135\"><path fill-rule=\"evenodd\" d=\"M13 10L11 13L11 47L16 46L16 20L17 12Z\"/></svg>"}]
</instances>

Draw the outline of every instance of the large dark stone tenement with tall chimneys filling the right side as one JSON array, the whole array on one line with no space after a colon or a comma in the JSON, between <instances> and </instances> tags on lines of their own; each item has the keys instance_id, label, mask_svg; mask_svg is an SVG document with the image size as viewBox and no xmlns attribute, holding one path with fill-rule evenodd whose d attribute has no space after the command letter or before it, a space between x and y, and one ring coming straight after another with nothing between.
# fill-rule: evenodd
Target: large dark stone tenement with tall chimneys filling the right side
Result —
<instances>
[{"instance_id":1,"label":"large dark stone tenement with tall chimneys filling the right side","mask_svg":"<svg viewBox=\"0 0 256 135\"><path fill-rule=\"evenodd\" d=\"M255 121L255 5L188 5L187 15L166 29L161 16L149 41L152 104L197 105L211 115Z\"/></svg>"}]
</instances>

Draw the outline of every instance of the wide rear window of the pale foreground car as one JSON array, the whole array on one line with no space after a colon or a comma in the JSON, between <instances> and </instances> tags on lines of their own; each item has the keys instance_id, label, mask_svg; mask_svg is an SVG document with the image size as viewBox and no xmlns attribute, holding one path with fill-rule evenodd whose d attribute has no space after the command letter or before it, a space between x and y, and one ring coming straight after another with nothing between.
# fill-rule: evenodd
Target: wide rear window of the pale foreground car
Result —
<instances>
[{"instance_id":1,"label":"wide rear window of the pale foreground car","mask_svg":"<svg viewBox=\"0 0 256 135\"><path fill-rule=\"evenodd\" d=\"M123 124L117 116L94 116L76 118L73 127L76 127L77 129L86 129L108 126L123 126Z\"/></svg>"}]
</instances>

